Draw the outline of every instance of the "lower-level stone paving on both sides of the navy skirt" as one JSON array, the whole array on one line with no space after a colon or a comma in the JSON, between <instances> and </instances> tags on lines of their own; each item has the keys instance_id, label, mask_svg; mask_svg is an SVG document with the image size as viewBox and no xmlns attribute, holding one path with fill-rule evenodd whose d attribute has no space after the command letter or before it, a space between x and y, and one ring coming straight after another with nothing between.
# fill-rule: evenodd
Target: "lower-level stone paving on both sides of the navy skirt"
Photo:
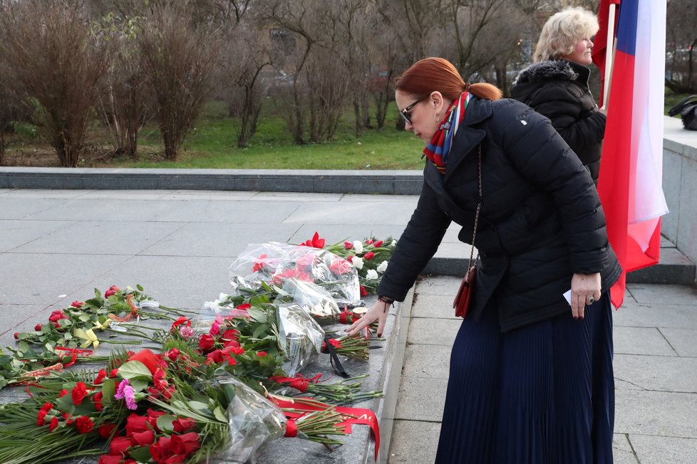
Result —
<instances>
[{"instance_id":1,"label":"lower-level stone paving on both sides of the navy skirt","mask_svg":"<svg viewBox=\"0 0 697 464\"><path fill-rule=\"evenodd\" d=\"M433 463L457 278L415 288L388 463ZM616 464L697 463L697 289L629 284L613 314Z\"/></svg>"}]
</instances>

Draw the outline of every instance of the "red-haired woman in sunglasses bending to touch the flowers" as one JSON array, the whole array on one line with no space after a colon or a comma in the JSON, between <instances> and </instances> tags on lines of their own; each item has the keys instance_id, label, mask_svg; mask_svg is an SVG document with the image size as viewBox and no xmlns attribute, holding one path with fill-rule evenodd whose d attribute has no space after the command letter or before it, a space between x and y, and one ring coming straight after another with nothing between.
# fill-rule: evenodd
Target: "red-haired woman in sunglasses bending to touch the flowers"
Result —
<instances>
[{"instance_id":1,"label":"red-haired woman in sunglasses bending to touch the flowers","mask_svg":"<svg viewBox=\"0 0 697 464\"><path fill-rule=\"evenodd\" d=\"M546 117L443 58L395 88L426 145L423 190L378 301L349 332L377 320L382 333L455 221L479 258L436 463L611 463L609 288L621 268L593 179Z\"/></svg>"}]
</instances>

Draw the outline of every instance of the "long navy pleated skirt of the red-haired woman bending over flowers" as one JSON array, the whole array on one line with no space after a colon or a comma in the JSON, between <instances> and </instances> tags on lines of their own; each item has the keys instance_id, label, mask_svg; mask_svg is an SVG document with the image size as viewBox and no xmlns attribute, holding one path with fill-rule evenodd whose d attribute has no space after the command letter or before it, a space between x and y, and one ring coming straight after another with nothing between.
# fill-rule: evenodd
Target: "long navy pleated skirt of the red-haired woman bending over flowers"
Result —
<instances>
[{"instance_id":1,"label":"long navy pleated skirt of the red-haired woman bending over flowers","mask_svg":"<svg viewBox=\"0 0 697 464\"><path fill-rule=\"evenodd\" d=\"M497 307L463 320L437 464L612 463L614 378L609 295L502 334Z\"/></svg>"}]
</instances>

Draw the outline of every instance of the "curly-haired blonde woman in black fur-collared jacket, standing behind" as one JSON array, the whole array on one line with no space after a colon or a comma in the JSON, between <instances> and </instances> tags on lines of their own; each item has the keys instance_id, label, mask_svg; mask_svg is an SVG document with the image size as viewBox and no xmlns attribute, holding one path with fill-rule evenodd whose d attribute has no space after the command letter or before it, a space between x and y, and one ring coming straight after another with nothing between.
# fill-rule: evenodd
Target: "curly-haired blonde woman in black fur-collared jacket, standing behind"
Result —
<instances>
[{"instance_id":1,"label":"curly-haired blonde woman in black fur-collared jacket, standing behind","mask_svg":"<svg viewBox=\"0 0 697 464\"><path fill-rule=\"evenodd\" d=\"M549 117L596 185L605 112L588 88L587 66L598 28L596 16L582 8L554 14L539 34L535 64L522 70L511 88L512 97Z\"/></svg>"}]
</instances>

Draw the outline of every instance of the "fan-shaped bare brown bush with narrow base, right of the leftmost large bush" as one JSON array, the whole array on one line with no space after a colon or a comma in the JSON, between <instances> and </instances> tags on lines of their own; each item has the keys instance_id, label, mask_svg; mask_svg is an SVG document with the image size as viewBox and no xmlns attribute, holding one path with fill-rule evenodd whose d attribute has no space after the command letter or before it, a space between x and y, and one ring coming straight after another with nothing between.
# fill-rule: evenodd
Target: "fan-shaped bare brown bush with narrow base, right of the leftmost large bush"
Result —
<instances>
[{"instance_id":1,"label":"fan-shaped bare brown bush with narrow base, right of the leftmost large bush","mask_svg":"<svg viewBox=\"0 0 697 464\"><path fill-rule=\"evenodd\" d=\"M192 24L185 6L158 6L138 35L143 70L155 95L165 158L177 151L212 90L217 30Z\"/></svg>"}]
</instances>

